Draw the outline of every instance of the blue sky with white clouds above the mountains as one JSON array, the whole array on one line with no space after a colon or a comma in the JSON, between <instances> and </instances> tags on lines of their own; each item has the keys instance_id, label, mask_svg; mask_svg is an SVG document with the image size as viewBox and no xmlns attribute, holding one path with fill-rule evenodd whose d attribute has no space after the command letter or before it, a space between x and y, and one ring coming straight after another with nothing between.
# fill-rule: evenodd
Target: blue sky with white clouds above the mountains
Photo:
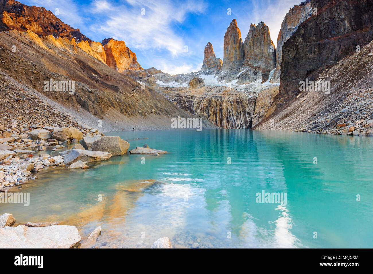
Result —
<instances>
[{"instance_id":1,"label":"blue sky with white clouds above the mountains","mask_svg":"<svg viewBox=\"0 0 373 274\"><path fill-rule=\"evenodd\" d=\"M170 74L198 71L207 42L223 59L226 29L236 19L245 40L250 24L263 21L277 43L281 22L301 0L18 0L42 6L94 41L125 41L144 68ZM231 15L228 15L228 9Z\"/></svg>"}]
</instances>

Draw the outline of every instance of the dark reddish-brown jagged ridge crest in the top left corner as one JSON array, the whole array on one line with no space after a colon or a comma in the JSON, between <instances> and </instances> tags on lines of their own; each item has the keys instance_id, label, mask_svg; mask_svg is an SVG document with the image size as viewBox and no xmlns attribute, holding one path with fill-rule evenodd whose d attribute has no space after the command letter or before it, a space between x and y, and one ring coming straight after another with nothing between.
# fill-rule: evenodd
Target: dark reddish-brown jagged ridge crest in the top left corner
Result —
<instances>
[{"instance_id":1,"label":"dark reddish-brown jagged ridge crest in the top left corner","mask_svg":"<svg viewBox=\"0 0 373 274\"><path fill-rule=\"evenodd\" d=\"M67 37L69 40L75 38L78 42L91 41L79 29L66 25L44 7L29 7L14 0L0 0L0 10L0 31L29 30L39 36L54 35Z\"/></svg>"}]
</instances>

